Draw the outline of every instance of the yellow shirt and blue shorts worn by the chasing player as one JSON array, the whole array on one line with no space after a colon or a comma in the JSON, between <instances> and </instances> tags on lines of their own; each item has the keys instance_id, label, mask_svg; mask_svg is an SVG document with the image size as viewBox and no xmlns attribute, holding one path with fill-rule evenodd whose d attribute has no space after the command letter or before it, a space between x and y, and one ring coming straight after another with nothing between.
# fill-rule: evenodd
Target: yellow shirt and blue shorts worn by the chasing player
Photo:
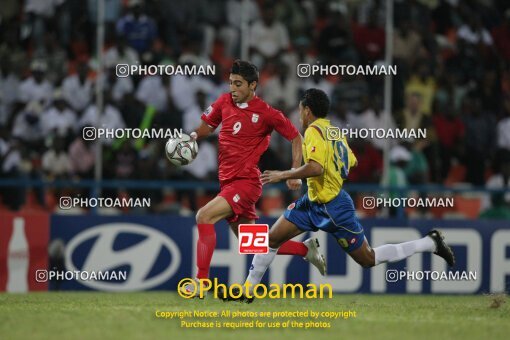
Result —
<instances>
[{"instance_id":1,"label":"yellow shirt and blue shorts worn by the chasing player","mask_svg":"<svg viewBox=\"0 0 510 340\"><path fill-rule=\"evenodd\" d=\"M322 230L332 234L348 253L365 240L351 196L342 190L356 157L342 136L329 140L329 120L319 118L305 131L305 162L319 163L324 172L307 179L308 193L289 205L283 216L303 232Z\"/></svg>"}]
</instances>

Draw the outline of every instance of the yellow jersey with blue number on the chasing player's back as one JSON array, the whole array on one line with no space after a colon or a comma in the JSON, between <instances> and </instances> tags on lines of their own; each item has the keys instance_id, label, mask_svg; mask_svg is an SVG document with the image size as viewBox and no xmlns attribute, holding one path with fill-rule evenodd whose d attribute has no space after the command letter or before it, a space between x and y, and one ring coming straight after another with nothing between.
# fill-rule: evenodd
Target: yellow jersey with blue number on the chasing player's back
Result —
<instances>
[{"instance_id":1,"label":"yellow jersey with blue number on the chasing player's back","mask_svg":"<svg viewBox=\"0 0 510 340\"><path fill-rule=\"evenodd\" d=\"M357 162L345 137L327 139L328 128L332 128L328 119L316 119L306 129L303 144L305 162L313 160L324 168L322 175L307 179L308 197L317 203L327 203L340 193L349 169Z\"/></svg>"}]
</instances>

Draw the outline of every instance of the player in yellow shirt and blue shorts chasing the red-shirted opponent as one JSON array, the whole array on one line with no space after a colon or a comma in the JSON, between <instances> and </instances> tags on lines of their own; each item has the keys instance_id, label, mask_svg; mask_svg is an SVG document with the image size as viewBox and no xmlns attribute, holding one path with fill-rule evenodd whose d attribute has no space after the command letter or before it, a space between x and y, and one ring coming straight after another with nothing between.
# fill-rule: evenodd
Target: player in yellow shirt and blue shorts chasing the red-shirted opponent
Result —
<instances>
[{"instance_id":1,"label":"player in yellow shirt and blue shorts chasing the red-shirted opponent","mask_svg":"<svg viewBox=\"0 0 510 340\"><path fill-rule=\"evenodd\" d=\"M305 130L305 164L286 171L264 171L261 175L263 184L306 178L308 192L289 205L270 229L269 252L254 256L246 281L252 287L260 283L281 244L301 233L318 230L333 234L349 256L365 268L400 261L420 252L434 252L453 266L453 252L435 229L418 240L370 247L356 217L352 199L343 190L349 170L357 164L356 156L345 138L328 139L328 127L331 126L326 119L328 111L329 99L323 91L306 90L299 103L300 120ZM316 246L319 247L318 244ZM226 299L253 301L246 292L240 298L229 296Z\"/></svg>"}]
</instances>

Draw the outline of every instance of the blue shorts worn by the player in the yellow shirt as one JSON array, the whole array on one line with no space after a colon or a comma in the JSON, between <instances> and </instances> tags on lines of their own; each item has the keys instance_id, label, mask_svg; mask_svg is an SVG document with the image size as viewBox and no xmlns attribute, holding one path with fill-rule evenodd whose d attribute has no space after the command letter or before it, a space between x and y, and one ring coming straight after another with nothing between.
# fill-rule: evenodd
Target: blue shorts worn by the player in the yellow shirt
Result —
<instances>
[{"instance_id":1,"label":"blue shorts worn by the player in the yellow shirt","mask_svg":"<svg viewBox=\"0 0 510 340\"><path fill-rule=\"evenodd\" d=\"M283 216L302 231L322 230L333 234L348 253L360 248L365 240L352 198L344 190L328 203L312 202L305 194L289 205Z\"/></svg>"}]
</instances>

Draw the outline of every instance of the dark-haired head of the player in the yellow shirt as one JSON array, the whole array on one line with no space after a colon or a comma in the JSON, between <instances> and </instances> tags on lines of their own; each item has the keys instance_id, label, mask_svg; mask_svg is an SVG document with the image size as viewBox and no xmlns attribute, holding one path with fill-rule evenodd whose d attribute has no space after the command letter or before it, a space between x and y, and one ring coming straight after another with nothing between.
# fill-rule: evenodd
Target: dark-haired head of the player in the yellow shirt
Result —
<instances>
[{"instance_id":1,"label":"dark-haired head of the player in the yellow shirt","mask_svg":"<svg viewBox=\"0 0 510 340\"><path fill-rule=\"evenodd\" d=\"M329 98L324 91L308 89L299 101L299 117L303 129L306 129L315 119L328 115Z\"/></svg>"}]
</instances>

